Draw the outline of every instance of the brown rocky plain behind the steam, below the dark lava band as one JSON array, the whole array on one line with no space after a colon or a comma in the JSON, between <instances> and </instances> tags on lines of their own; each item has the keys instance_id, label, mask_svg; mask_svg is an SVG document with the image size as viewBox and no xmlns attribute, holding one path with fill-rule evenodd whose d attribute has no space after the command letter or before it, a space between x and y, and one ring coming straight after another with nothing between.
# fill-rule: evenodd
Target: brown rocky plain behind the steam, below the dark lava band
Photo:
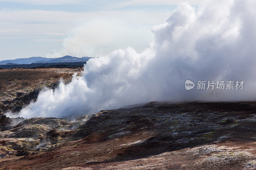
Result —
<instances>
[{"instance_id":1,"label":"brown rocky plain behind the steam, below the dark lava band","mask_svg":"<svg viewBox=\"0 0 256 170\"><path fill-rule=\"evenodd\" d=\"M1 69L0 113L19 112L31 100L36 100L44 87L56 88L60 78L68 83L82 69Z\"/></svg>"}]
</instances>

